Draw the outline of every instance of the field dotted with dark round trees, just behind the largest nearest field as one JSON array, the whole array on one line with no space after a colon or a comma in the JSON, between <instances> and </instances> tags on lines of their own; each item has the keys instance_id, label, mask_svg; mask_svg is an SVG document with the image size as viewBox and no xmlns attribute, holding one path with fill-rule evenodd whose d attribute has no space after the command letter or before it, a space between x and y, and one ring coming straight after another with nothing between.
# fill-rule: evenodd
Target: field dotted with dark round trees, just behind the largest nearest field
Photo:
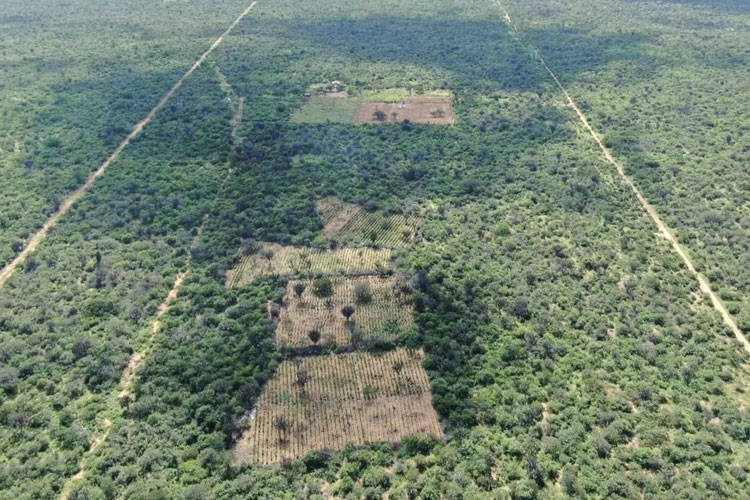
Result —
<instances>
[{"instance_id":1,"label":"field dotted with dark round trees, just behind the largest nearest field","mask_svg":"<svg viewBox=\"0 0 750 500\"><path fill-rule=\"evenodd\" d=\"M304 286L301 296L297 296L297 286ZM368 290L370 300L357 300L357 290ZM333 294L327 299L313 293L312 281L291 281L279 316L276 342L285 347L309 346L313 344L309 337L312 330L320 333L318 344L349 345L357 335L352 331L362 336L355 343L393 340L398 332L413 324L410 300L410 295L401 292L392 278L339 278L333 281ZM341 311L345 306L354 308L348 321Z\"/></svg>"}]
</instances>

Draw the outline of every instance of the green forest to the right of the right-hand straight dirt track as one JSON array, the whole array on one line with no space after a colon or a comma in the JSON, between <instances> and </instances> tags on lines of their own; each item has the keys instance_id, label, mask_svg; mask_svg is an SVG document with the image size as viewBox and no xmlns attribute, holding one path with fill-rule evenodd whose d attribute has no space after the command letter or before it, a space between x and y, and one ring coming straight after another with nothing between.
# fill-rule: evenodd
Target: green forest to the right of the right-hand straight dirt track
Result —
<instances>
[{"instance_id":1,"label":"green forest to the right of the right-hand straight dirt track","mask_svg":"<svg viewBox=\"0 0 750 500\"><path fill-rule=\"evenodd\" d=\"M750 330L750 6L506 4Z\"/></svg>"}]
</instances>

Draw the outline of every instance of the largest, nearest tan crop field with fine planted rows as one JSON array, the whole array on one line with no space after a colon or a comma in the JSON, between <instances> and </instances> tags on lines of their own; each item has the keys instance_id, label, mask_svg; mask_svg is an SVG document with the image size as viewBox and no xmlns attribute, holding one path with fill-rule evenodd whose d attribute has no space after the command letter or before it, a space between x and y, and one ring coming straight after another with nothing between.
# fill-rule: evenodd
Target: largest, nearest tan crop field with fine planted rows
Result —
<instances>
[{"instance_id":1,"label":"largest, nearest tan crop field with fine planted rows","mask_svg":"<svg viewBox=\"0 0 750 500\"><path fill-rule=\"evenodd\" d=\"M349 442L442 436L422 359L421 351L399 349L284 362L235 448L235 464L280 463Z\"/></svg>"}]
</instances>

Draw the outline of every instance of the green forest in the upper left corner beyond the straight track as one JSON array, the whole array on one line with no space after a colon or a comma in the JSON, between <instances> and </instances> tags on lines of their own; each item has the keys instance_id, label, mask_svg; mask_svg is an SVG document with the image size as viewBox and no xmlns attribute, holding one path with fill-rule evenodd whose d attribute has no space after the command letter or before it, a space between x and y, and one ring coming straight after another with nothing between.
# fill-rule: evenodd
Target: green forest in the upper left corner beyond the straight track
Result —
<instances>
[{"instance_id":1,"label":"green forest in the upper left corner beyond the straight track","mask_svg":"<svg viewBox=\"0 0 750 500\"><path fill-rule=\"evenodd\" d=\"M244 8L3 2L0 265L112 153Z\"/></svg>"}]
</instances>

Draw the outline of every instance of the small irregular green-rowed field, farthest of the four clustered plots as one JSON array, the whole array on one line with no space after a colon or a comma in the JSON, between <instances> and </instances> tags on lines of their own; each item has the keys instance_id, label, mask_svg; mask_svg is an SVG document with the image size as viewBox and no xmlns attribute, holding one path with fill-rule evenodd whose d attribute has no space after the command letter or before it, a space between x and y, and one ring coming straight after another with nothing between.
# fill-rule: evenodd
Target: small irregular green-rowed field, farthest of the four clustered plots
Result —
<instances>
[{"instance_id":1,"label":"small irregular green-rowed field, farthest of the four clustered plots","mask_svg":"<svg viewBox=\"0 0 750 500\"><path fill-rule=\"evenodd\" d=\"M324 224L323 234L344 242L403 246L414 240L422 222L419 217L414 216L367 212L337 198L319 201L317 209Z\"/></svg>"}]
</instances>

